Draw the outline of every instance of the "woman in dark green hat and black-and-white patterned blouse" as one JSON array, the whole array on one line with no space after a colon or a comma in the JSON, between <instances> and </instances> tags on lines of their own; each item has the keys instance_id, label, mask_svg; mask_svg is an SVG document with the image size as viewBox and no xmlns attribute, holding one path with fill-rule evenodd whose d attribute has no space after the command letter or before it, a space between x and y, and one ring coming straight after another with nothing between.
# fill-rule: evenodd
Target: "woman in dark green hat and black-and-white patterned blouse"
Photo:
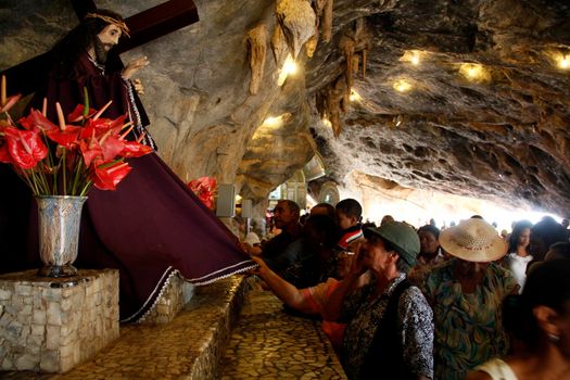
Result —
<instances>
[{"instance_id":1,"label":"woman in dark green hat and black-and-white patterned blouse","mask_svg":"<svg viewBox=\"0 0 570 380\"><path fill-rule=\"evenodd\" d=\"M406 224L364 231L349 276L332 293L325 318L347 322L342 364L349 379L433 379L433 318L421 291L406 280L420 243ZM373 280L354 291L359 276Z\"/></svg>"}]
</instances>

